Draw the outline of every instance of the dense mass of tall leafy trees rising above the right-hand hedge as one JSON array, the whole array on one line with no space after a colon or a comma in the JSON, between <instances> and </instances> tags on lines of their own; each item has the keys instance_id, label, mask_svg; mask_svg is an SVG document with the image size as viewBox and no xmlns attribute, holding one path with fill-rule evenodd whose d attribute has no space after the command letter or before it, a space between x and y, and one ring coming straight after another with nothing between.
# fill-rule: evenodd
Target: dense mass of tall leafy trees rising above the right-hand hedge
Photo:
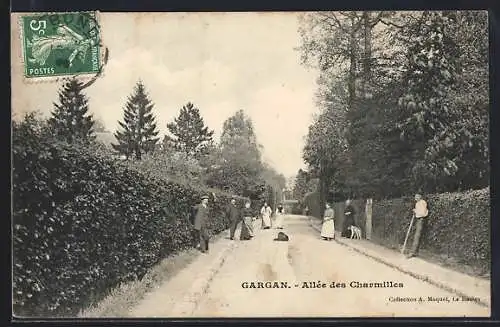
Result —
<instances>
[{"instance_id":1,"label":"dense mass of tall leafy trees rising above the right-hand hedge","mask_svg":"<svg viewBox=\"0 0 500 327\"><path fill-rule=\"evenodd\" d=\"M320 114L303 152L322 200L488 184L485 12L305 16Z\"/></svg>"}]
</instances>

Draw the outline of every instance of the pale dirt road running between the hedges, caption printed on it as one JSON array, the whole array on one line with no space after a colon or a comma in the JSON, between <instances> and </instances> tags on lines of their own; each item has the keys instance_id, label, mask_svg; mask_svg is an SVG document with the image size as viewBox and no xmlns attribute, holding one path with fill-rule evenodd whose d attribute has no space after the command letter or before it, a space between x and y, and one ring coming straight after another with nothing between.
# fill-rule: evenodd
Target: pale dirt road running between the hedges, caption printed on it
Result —
<instances>
[{"instance_id":1,"label":"pale dirt road running between the hedges, caption printed on it","mask_svg":"<svg viewBox=\"0 0 500 327\"><path fill-rule=\"evenodd\" d=\"M258 231L251 241L233 241L238 244L228 251L208 289L187 316L489 315L488 308L472 299L459 298L334 241L321 240L305 217L287 216L284 231L290 236L289 242L273 241L277 234L274 229ZM156 316L179 316L167 308L159 312ZM140 312L135 316L141 316Z\"/></svg>"}]
</instances>

